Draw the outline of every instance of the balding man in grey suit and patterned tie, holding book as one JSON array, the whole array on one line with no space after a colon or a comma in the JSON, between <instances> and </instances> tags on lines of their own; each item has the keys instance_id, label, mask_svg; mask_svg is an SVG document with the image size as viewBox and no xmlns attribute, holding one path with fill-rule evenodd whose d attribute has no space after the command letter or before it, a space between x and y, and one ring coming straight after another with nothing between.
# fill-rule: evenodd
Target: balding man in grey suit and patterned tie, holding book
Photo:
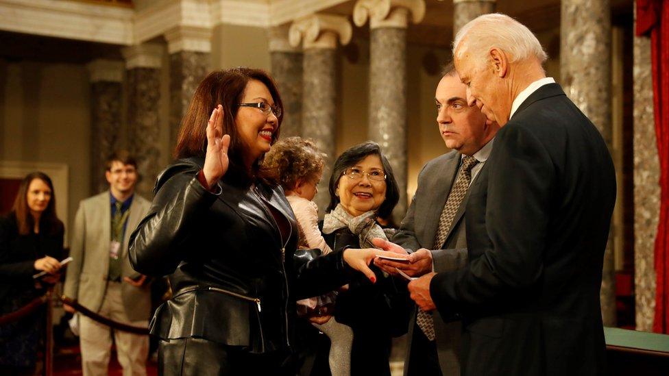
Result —
<instances>
[{"instance_id":1,"label":"balding man in grey suit and patterned tie, holding book","mask_svg":"<svg viewBox=\"0 0 669 376\"><path fill-rule=\"evenodd\" d=\"M454 271L467 262L465 212L467 189L476 181L492 149L497 123L467 105L467 87L452 64L437 86L437 125L446 147L418 176L418 188L393 242L413 253L415 262L376 264L388 273L399 268L412 277L431 271ZM428 251L428 249L430 251ZM459 321L446 323L438 312L413 314L405 375L459 375Z\"/></svg>"}]
</instances>

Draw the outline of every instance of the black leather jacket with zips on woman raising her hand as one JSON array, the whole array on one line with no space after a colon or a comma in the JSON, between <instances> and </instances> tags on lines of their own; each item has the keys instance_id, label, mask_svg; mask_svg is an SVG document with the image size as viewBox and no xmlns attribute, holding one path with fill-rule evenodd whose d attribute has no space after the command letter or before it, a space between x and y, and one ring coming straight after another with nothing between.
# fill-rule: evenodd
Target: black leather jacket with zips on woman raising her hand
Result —
<instances>
[{"instance_id":1,"label":"black leather jacket with zips on woman raising her hand","mask_svg":"<svg viewBox=\"0 0 669 376\"><path fill-rule=\"evenodd\" d=\"M173 298L149 329L163 339L198 337L253 353L290 349L295 301L347 283L342 253L300 262L297 224L280 187L197 180L202 158L179 160L158 177L149 214L130 237L130 262L168 275ZM290 223L282 238L268 205ZM295 257L294 257L295 256Z\"/></svg>"}]
</instances>

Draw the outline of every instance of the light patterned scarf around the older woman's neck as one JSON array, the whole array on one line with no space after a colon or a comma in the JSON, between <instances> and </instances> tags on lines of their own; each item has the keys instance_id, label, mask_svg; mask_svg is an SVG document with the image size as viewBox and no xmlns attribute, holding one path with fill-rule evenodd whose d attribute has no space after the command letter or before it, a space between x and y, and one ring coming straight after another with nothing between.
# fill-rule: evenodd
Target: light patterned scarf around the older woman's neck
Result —
<instances>
[{"instance_id":1,"label":"light patterned scarf around the older woman's neck","mask_svg":"<svg viewBox=\"0 0 669 376\"><path fill-rule=\"evenodd\" d=\"M347 228L358 236L361 248L376 248L372 239L388 240L385 231L376 223L376 212L370 210L359 216L352 216L339 203L335 210L325 215L323 219L323 233L332 234L338 229Z\"/></svg>"}]
</instances>

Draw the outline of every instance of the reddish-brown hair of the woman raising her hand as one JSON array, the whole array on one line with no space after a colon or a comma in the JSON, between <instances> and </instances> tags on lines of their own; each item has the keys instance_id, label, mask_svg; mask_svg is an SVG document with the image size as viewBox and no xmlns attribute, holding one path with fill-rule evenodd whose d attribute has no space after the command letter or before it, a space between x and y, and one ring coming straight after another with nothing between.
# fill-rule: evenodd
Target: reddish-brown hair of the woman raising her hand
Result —
<instances>
[{"instance_id":1,"label":"reddish-brown hair of the woman raising her hand","mask_svg":"<svg viewBox=\"0 0 669 376\"><path fill-rule=\"evenodd\" d=\"M202 157L207 150L206 127L212 110L217 105L223 106L223 134L230 135L230 149L228 157L230 166L228 173L233 176L252 178L258 175L262 158L247 171L243 164L242 150L245 147L239 138L234 118L239 110L238 104L242 101L246 84L255 79L262 82L269 89L274 105L283 108L283 103L271 76L263 70L254 68L231 68L224 71L215 71L205 77L195 90L191 105L181 122L177 146L174 149L175 158ZM273 145L279 137L283 115L278 117L276 131L272 135ZM228 175L228 174L226 174Z\"/></svg>"}]
</instances>

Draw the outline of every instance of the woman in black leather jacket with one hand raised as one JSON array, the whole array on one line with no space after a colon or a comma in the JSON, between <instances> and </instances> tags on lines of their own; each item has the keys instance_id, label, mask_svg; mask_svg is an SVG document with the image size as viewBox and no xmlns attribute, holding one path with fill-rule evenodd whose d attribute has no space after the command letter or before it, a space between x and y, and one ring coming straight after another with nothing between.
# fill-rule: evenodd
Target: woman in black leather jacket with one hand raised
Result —
<instances>
[{"instance_id":1,"label":"woman in black leather jacket with one hand raised","mask_svg":"<svg viewBox=\"0 0 669 376\"><path fill-rule=\"evenodd\" d=\"M273 79L233 68L202 81L175 155L158 177L149 214L130 237L145 275L169 275L173 297L149 327L160 375L294 375L297 299L371 279L378 250L302 263L297 225L273 171L260 168L277 140L282 103Z\"/></svg>"}]
</instances>

